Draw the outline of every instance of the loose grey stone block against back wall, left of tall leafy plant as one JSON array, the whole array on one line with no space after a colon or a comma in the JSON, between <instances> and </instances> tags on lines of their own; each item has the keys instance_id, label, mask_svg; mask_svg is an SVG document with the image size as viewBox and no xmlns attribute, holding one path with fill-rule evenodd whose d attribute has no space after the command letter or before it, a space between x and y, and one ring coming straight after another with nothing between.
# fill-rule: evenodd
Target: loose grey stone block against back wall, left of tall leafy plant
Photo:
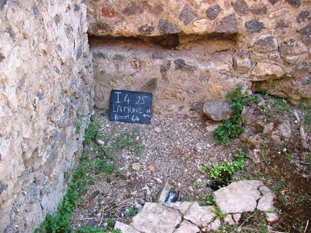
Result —
<instances>
[{"instance_id":1,"label":"loose grey stone block against back wall, left of tall leafy plant","mask_svg":"<svg viewBox=\"0 0 311 233\"><path fill-rule=\"evenodd\" d=\"M214 121L229 120L233 111L228 102L205 102L203 112Z\"/></svg>"}]
</instances>

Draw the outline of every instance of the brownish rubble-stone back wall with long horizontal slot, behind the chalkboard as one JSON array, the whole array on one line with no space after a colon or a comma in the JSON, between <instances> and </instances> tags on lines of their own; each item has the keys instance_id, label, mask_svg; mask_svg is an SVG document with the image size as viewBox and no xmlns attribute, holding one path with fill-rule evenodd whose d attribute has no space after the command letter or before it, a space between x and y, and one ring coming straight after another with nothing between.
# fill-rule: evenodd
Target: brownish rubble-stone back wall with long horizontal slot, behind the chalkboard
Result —
<instances>
[{"instance_id":1,"label":"brownish rubble-stone back wall with long horizontal slot, behind the chalkboard","mask_svg":"<svg viewBox=\"0 0 311 233\"><path fill-rule=\"evenodd\" d=\"M86 4L97 107L130 89L151 91L158 112L188 114L237 83L294 104L311 97L310 0Z\"/></svg>"}]
</instances>

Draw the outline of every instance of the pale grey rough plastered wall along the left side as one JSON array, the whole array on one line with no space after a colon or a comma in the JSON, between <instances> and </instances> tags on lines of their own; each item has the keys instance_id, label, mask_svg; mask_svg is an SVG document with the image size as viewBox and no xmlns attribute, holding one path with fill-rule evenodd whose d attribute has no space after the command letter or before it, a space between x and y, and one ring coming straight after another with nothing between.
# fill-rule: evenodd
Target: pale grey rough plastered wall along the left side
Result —
<instances>
[{"instance_id":1,"label":"pale grey rough plastered wall along the left side","mask_svg":"<svg viewBox=\"0 0 311 233\"><path fill-rule=\"evenodd\" d=\"M0 232L33 232L66 192L77 112L93 107L86 6L0 0L0 27Z\"/></svg>"}]
</instances>

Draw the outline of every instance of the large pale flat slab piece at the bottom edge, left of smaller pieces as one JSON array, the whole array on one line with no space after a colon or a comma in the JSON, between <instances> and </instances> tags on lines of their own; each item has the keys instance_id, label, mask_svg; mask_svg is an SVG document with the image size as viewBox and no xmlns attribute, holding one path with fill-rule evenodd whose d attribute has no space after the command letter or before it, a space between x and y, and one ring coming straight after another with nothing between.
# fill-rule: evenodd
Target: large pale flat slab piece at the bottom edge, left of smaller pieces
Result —
<instances>
[{"instance_id":1,"label":"large pale flat slab piece at the bottom edge, left of smaller pieces","mask_svg":"<svg viewBox=\"0 0 311 233\"><path fill-rule=\"evenodd\" d=\"M182 221L178 210L165 207L160 203L145 203L138 214L133 217L132 226L143 233L172 233Z\"/></svg>"}]
</instances>

